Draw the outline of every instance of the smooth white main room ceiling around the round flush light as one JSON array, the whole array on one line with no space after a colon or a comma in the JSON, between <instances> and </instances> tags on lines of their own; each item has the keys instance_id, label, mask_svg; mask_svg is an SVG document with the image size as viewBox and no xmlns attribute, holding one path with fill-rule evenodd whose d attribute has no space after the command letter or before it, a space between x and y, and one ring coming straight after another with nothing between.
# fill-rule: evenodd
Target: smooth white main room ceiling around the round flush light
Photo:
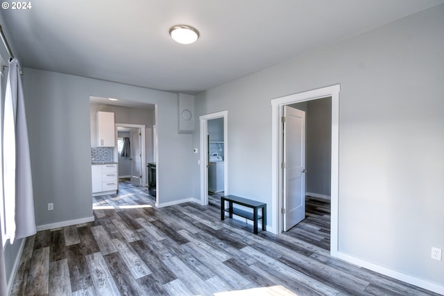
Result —
<instances>
[{"instance_id":1,"label":"smooth white main room ceiling around the round flush light","mask_svg":"<svg viewBox=\"0 0 444 296\"><path fill-rule=\"evenodd\" d=\"M196 94L443 2L38 0L0 13L22 67ZM199 40L171 40L176 24Z\"/></svg>"}]
</instances>

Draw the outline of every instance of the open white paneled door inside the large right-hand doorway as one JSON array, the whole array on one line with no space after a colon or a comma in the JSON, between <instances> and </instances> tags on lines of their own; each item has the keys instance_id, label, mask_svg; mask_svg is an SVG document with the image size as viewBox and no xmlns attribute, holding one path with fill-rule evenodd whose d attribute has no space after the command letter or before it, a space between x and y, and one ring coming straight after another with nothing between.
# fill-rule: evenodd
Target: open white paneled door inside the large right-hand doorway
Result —
<instances>
[{"instance_id":1,"label":"open white paneled door inside the large right-hand doorway","mask_svg":"<svg viewBox=\"0 0 444 296\"><path fill-rule=\"evenodd\" d=\"M305 112L284 106L284 231L305 219Z\"/></svg>"}]
</instances>

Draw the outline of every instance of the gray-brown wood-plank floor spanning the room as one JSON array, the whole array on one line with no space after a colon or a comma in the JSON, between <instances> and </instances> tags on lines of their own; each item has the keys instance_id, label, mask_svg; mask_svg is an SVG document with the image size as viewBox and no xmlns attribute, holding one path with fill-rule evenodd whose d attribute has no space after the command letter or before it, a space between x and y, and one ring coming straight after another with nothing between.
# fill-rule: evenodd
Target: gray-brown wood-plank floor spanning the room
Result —
<instances>
[{"instance_id":1,"label":"gray-brown wood-plank floor spanning the room","mask_svg":"<svg viewBox=\"0 0 444 296\"><path fill-rule=\"evenodd\" d=\"M221 221L216 195L156 209L121 183L93 202L94 223L26 240L12 295L436 295L332 258L328 200L279 235Z\"/></svg>"}]
</instances>

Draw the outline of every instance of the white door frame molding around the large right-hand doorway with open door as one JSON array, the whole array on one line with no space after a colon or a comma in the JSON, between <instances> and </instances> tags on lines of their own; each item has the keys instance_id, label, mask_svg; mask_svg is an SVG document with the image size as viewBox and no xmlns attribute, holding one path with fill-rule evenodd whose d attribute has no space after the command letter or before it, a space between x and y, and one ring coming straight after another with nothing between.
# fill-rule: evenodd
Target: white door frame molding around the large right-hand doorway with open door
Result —
<instances>
[{"instance_id":1,"label":"white door frame molding around the large right-hand doorway with open door","mask_svg":"<svg viewBox=\"0 0 444 296\"><path fill-rule=\"evenodd\" d=\"M283 173L280 167L282 159L282 124L283 106L293 103L316 100L318 98L332 98L332 179L331 179L331 225L330 225L330 255L338 253L338 211L339 211L339 92L341 85L332 85L308 92L291 94L271 100L271 220L272 232L281 233L283 229L283 217L281 210L283 202L282 180Z\"/></svg>"}]
</instances>

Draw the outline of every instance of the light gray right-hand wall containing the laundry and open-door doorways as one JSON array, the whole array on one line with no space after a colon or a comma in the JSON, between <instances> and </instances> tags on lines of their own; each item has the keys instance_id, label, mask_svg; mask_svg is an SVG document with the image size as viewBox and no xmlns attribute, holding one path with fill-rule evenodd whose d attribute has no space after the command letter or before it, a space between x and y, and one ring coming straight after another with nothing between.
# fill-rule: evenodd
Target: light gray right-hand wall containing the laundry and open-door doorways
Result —
<instances>
[{"instance_id":1,"label":"light gray right-hand wall containing the laundry and open-door doorways","mask_svg":"<svg viewBox=\"0 0 444 296\"><path fill-rule=\"evenodd\" d=\"M444 285L430 259L444 247L443 32L441 5L198 94L196 118L228 110L229 193L271 204L271 99L340 83L339 251Z\"/></svg>"}]
</instances>

